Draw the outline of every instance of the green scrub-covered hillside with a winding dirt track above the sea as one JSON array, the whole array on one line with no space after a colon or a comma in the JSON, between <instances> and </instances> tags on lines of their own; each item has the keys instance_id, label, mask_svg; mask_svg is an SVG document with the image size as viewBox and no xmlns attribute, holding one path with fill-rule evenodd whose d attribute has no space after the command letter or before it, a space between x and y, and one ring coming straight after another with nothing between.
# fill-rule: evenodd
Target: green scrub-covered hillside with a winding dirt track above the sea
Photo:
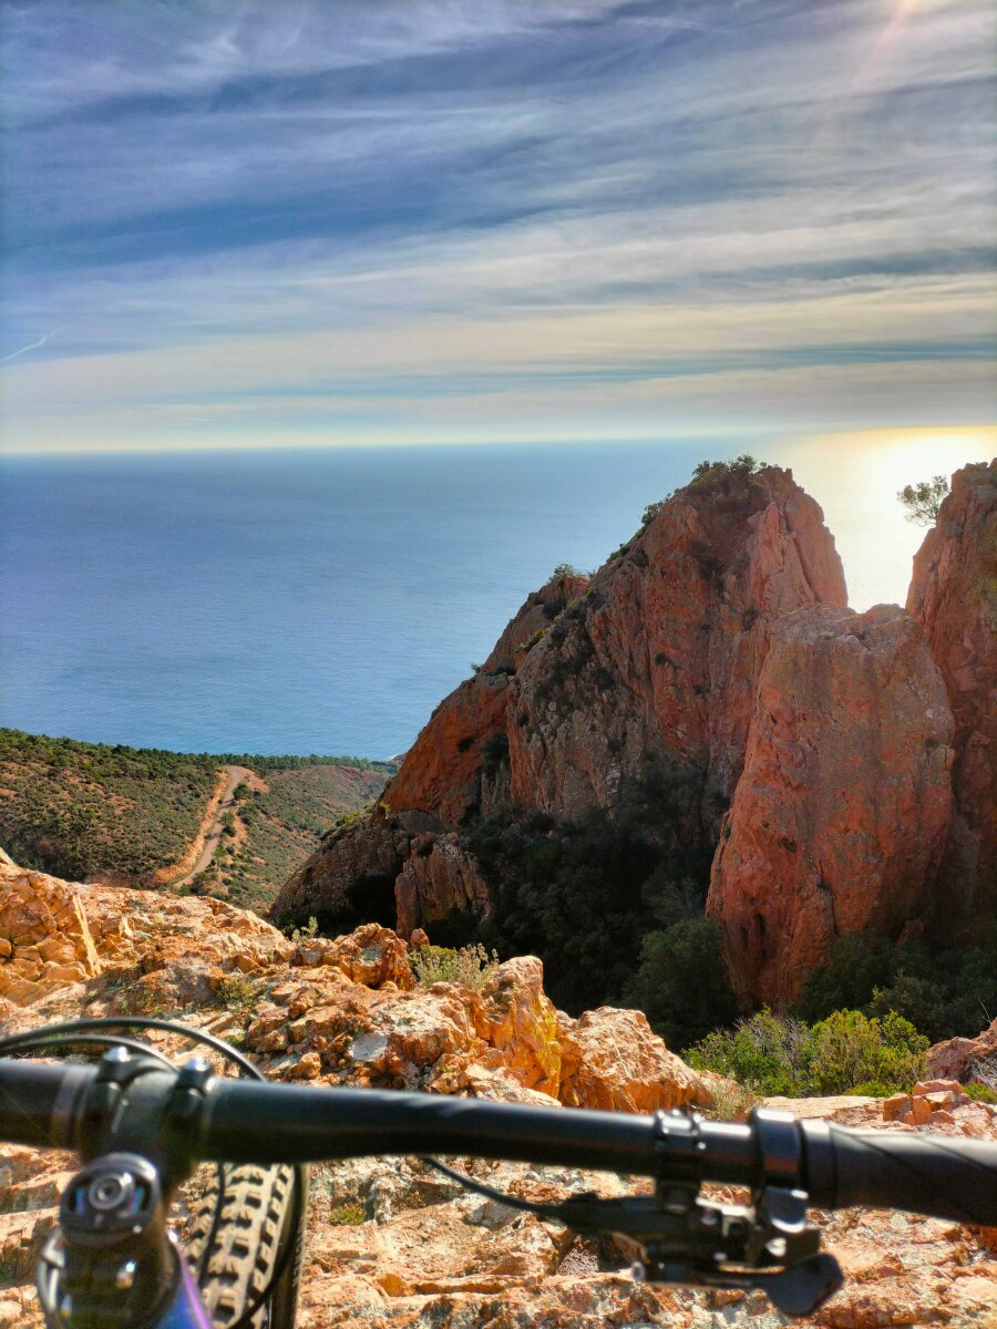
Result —
<instances>
[{"instance_id":1,"label":"green scrub-covered hillside with a winding dirt track above the sea","mask_svg":"<svg viewBox=\"0 0 997 1329\"><path fill-rule=\"evenodd\" d=\"M331 821L376 797L388 763L108 747L0 730L0 845L76 880L169 885L211 820L219 772L254 773L194 889L265 908ZM219 870L221 869L221 870Z\"/></svg>"}]
</instances>

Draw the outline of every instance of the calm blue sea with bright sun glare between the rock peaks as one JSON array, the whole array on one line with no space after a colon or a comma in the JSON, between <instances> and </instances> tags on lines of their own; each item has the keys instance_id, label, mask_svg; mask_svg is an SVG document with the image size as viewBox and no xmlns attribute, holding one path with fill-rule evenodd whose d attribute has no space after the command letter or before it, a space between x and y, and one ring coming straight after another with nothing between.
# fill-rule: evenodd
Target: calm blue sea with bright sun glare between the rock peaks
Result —
<instances>
[{"instance_id":1,"label":"calm blue sea with bright sun glare between the rock peaks","mask_svg":"<svg viewBox=\"0 0 997 1329\"><path fill-rule=\"evenodd\" d=\"M553 567L589 570L693 466L750 451L824 504L856 609L900 602L895 500L965 444L259 449L0 459L0 726L387 759ZM927 468L927 469L925 469Z\"/></svg>"}]
</instances>

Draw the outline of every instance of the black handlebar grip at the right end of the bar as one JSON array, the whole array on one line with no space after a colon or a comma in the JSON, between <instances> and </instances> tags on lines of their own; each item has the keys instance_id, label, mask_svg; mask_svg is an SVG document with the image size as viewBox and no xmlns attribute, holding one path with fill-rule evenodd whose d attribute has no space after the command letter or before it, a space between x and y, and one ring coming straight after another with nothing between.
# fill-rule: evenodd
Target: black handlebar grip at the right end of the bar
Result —
<instances>
[{"instance_id":1,"label":"black handlebar grip at the right end of the bar","mask_svg":"<svg viewBox=\"0 0 997 1329\"><path fill-rule=\"evenodd\" d=\"M982 1227L997 1224L997 1144L944 1135L849 1131L800 1122L812 1204L868 1204Z\"/></svg>"}]
</instances>

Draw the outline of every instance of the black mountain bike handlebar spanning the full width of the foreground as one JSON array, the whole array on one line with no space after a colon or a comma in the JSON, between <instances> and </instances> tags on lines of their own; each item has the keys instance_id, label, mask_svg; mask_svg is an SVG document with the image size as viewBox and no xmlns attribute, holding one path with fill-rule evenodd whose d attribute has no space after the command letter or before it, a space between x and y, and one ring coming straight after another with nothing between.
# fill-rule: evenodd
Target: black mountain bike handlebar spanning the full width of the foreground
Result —
<instances>
[{"instance_id":1,"label":"black mountain bike handlebar spanning the full width of the foreground","mask_svg":"<svg viewBox=\"0 0 997 1329\"><path fill-rule=\"evenodd\" d=\"M193 1065L193 1063L191 1063ZM186 1076L186 1080L185 1080ZM363 1155L473 1155L698 1185L806 1191L810 1203L997 1224L997 1144L855 1131L755 1112L747 1124L578 1108L199 1078L146 1065L121 1090L94 1066L0 1061L0 1139L128 1150L164 1166L179 1135L198 1160L306 1163ZM100 1119L100 1124L98 1124Z\"/></svg>"}]
</instances>

